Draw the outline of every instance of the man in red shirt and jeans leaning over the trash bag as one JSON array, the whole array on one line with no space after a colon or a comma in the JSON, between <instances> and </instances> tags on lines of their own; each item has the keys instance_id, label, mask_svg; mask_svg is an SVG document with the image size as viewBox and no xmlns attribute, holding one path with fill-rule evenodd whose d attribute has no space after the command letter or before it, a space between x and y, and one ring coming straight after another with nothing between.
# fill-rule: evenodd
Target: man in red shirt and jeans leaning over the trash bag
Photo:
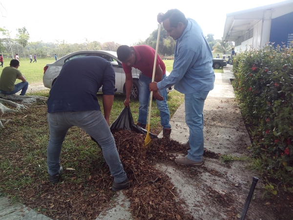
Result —
<instances>
[{"instance_id":1,"label":"man in red shirt and jeans leaning over the trash bag","mask_svg":"<svg viewBox=\"0 0 293 220\"><path fill-rule=\"evenodd\" d=\"M139 78L139 116L137 125L146 128L147 110L150 97L149 84L152 80L155 50L148 45L127 46L121 45L117 49L118 59L122 62L126 75L126 107L130 104L130 92L132 88L131 68L139 69L142 74ZM160 82L166 77L166 66L159 55L155 71L155 82ZM167 90L161 89L153 92L156 98L158 109L160 110L161 125L163 126L163 136L170 137L171 125L169 124L170 112L167 105Z\"/></svg>"}]
</instances>

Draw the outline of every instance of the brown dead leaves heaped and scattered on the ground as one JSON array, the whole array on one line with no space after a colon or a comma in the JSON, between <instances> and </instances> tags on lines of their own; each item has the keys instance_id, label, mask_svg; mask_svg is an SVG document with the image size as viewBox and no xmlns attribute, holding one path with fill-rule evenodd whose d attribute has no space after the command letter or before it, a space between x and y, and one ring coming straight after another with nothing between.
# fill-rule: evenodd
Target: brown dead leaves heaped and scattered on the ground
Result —
<instances>
[{"instance_id":1,"label":"brown dead leaves heaped and scattered on the ground","mask_svg":"<svg viewBox=\"0 0 293 220\"><path fill-rule=\"evenodd\" d=\"M112 133L130 178L130 187L123 193L131 202L129 211L133 219L192 220L169 176L155 168L156 162L175 165L175 156L171 153L186 154L186 149L179 142L165 138L153 139L150 149L146 149L145 134L124 130ZM218 157L207 150L205 154L212 158ZM112 202L111 198L115 194L111 190L113 177L105 164L101 169L93 171L85 183L70 184L62 182L61 177L60 183L56 185L43 181L39 185L20 189L19 195L24 204L38 207L35 208L37 212L52 219L93 220Z\"/></svg>"}]
</instances>

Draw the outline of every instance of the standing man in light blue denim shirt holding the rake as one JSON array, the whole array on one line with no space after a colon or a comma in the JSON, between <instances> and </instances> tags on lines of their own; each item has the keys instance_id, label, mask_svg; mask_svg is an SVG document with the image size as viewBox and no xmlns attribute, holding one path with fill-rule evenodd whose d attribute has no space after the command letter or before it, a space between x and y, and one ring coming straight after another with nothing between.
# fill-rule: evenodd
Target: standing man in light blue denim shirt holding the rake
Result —
<instances>
[{"instance_id":1,"label":"standing man in light blue denim shirt holding the rake","mask_svg":"<svg viewBox=\"0 0 293 220\"><path fill-rule=\"evenodd\" d=\"M213 89L215 75L212 68L212 53L201 27L192 19L186 19L178 9L158 14L167 35L176 40L173 70L161 82L150 83L149 89L156 91L175 85L185 94L185 121L189 128L189 140L184 144L188 155L175 159L183 165L201 166L204 153L204 104Z\"/></svg>"}]
</instances>

